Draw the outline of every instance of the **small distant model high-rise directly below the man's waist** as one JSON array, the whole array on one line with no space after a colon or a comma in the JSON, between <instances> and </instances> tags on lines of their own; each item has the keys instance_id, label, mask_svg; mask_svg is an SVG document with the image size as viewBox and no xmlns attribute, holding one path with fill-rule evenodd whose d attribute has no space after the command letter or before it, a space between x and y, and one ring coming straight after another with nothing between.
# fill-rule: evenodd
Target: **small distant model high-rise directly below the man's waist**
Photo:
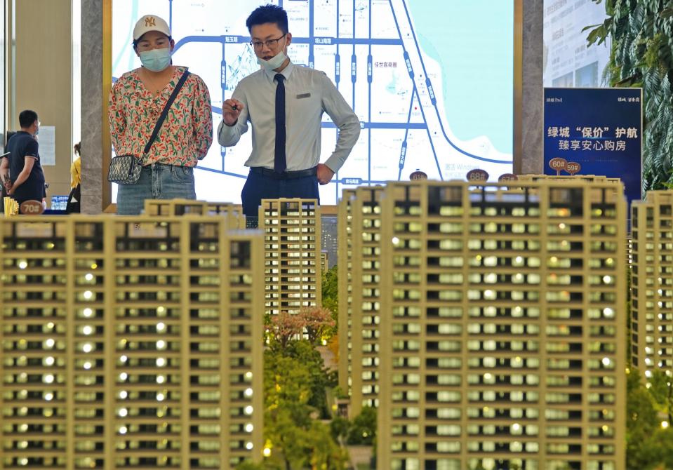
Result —
<instances>
[{"instance_id":1,"label":"small distant model high-rise directly below the man's waist","mask_svg":"<svg viewBox=\"0 0 673 470\"><path fill-rule=\"evenodd\" d=\"M316 199L262 199L265 311L321 307L320 207Z\"/></svg>"}]
</instances>

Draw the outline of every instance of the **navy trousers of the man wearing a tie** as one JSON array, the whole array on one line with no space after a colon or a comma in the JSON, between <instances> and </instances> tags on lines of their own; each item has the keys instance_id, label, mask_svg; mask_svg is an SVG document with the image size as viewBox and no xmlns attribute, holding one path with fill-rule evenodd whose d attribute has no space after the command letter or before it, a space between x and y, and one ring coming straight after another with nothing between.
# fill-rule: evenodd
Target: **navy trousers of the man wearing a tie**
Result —
<instances>
[{"instance_id":1,"label":"navy trousers of the man wearing a tie","mask_svg":"<svg viewBox=\"0 0 673 470\"><path fill-rule=\"evenodd\" d=\"M317 199L320 202L318 178L313 175L280 180L261 173L248 174L248 180L241 191L246 218L258 217L262 199L279 198Z\"/></svg>"}]
</instances>

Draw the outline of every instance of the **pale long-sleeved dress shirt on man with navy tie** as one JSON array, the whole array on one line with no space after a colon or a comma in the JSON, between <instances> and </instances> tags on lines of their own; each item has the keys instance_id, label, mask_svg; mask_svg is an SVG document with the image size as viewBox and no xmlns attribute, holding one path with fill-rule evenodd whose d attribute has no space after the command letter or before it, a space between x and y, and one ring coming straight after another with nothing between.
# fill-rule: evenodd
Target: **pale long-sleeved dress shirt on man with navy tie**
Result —
<instances>
[{"instance_id":1,"label":"pale long-sleeved dress shirt on man with navy tie","mask_svg":"<svg viewBox=\"0 0 673 470\"><path fill-rule=\"evenodd\" d=\"M241 80L232 98L244 109L234 126L222 121L218 128L220 145L232 147L248 131L248 121L253 125L253 152L246 166L274 168L276 73L260 69ZM285 76L287 170L305 170L320 162L321 121L326 112L339 128L334 152L325 162L336 173L360 135L357 115L325 72L290 62L280 73Z\"/></svg>"}]
</instances>

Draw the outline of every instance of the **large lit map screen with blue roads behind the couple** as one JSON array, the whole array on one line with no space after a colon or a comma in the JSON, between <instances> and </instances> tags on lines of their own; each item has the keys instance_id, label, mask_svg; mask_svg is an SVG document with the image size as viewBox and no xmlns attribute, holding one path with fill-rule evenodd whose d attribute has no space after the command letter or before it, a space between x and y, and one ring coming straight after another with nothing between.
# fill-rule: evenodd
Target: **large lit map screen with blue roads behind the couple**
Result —
<instances>
[{"instance_id":1,"label":"large lit map screen with blue roads behind the couple","mask_svg":"<svg viewBox=\"0 0 673 470\"><path fill-rule=\"evenodd\" d=\"M514 0L113 0L112 80L140 66L136 20L159 15L175 39L173 63L206 82L216 129L222 102L259 68L245 22L267 3L288 12L293 62L326 72L361 122L321 203L415 170L435 180L512 171ZM337 130L327 114L322 127L325 161ZM195 172L196 196L240 203L250 152L249 131L229 148L215 136Z\"/></svg>"}]
</instances>

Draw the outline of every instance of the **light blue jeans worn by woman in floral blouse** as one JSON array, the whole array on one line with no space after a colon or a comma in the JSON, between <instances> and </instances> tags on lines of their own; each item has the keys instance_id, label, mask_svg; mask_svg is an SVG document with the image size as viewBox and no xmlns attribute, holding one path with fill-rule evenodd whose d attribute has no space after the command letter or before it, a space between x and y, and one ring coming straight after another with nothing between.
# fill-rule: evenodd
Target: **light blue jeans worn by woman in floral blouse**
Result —
<instances>
[{"instance_id":1,"label":"light blue jeans worn by woman in floral blouse","mask_svg":"<svg viewBox=\"0 0 673 470\"><path fill-rule=\"evenodd\" d=\"M145 199L196 199L194 168L151 163L142 167L135 184L119 184L116 211L119 215L138 215Z\"/></svg>"}]
</instances>

